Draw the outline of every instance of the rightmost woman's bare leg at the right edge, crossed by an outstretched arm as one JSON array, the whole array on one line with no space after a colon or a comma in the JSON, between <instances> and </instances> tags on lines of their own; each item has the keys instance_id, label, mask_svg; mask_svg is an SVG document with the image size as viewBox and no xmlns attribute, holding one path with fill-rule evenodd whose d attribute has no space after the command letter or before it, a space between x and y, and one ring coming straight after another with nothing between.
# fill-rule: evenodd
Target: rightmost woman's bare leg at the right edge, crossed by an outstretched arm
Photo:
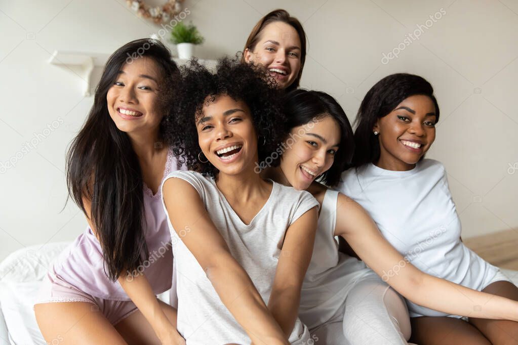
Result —
<instances>
[{"instance_id":1,"label":"rightmost woman's bare leg at the right edge, crossed by an outstretched arm","mask_svg":"<svg viewBox=\"0 0 518 345\"><path fill-rule=\"evenodd\" d=\"M482 291L518 301L518 288L509 281L495 281ZM495 345L518 344L518 322L470 318L469 323Z\"/></svg>"}]
</instances>

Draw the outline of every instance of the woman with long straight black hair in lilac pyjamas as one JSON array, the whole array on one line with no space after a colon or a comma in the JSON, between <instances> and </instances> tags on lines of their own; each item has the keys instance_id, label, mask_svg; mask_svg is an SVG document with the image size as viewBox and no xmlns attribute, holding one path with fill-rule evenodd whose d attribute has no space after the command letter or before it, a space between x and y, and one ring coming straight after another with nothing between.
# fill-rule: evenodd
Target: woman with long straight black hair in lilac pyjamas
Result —
<instances>
[{"instance_id":1,"label":"woman with long straight black hair in lilac pyjamas","mask_svg":"<svg viewBox=\"0 0 518 345\"><path fill-rule=\"evenodd\" d=\"M34 309L48 342L181 342L160 184L178 169L162 123L179 71L167 48L139 39L114 52L67 155L70 197L89 227L54 263Z\"/></svg>"}]
</instances>

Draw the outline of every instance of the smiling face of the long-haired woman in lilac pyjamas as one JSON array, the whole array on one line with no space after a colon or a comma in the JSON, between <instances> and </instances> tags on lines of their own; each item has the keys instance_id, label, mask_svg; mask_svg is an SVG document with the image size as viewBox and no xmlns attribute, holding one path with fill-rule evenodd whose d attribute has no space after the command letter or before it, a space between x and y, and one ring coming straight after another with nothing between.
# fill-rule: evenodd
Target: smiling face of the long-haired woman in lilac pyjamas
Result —
<instances>
[{"instance_id":1,"label":"smiling face of the long-haired woman in lilac pyjamas","mask_svg":"<svg viewBox=\"0 0 518 345\"><path fill-rule=\"evenodd\" d=\"M121 67L106 100L113 122L123 132L158 131L160 69L153 59L142 57Z\"/></svg>"}]
</instances>

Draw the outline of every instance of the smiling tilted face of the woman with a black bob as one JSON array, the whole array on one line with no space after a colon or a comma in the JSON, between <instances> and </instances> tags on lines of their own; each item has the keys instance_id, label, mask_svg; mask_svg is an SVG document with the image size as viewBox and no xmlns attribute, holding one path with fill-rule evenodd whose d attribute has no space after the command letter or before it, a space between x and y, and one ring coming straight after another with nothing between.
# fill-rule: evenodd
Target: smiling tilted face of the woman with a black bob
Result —
<instances>
[{"instance_id":1,"label":"smiling tilted face of the woman with a black bob","mask_svg":"<svg viewBox=\"0 0 518 345\"><path fill-rule=\"evenodd\" d=\"M282 173L293 188L305 190L333 165L340 145L340 126L330 116L321 117L292 128L284 144L290 148L281 156Z\"/></svg>"}]
</instances>

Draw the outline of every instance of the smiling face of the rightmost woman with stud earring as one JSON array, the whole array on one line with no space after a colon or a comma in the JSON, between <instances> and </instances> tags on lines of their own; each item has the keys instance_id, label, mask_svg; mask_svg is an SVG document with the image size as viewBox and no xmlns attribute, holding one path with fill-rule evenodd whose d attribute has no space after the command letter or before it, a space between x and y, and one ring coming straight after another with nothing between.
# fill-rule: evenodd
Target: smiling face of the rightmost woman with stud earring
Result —
<instances>
[{"instance_id":1,"label":"smiling face of the rightmost woman with stud earring","mask_svg":"<svg viewBox=\"0 0 518 345\"><path fill-rule=\"evenodd\" d=\"M413 169L435 140L436 109L424 95L404 99L388 115L378 119L373 131L378 131L382 169L406 171Z\"/></svg>"}]
</instances>

